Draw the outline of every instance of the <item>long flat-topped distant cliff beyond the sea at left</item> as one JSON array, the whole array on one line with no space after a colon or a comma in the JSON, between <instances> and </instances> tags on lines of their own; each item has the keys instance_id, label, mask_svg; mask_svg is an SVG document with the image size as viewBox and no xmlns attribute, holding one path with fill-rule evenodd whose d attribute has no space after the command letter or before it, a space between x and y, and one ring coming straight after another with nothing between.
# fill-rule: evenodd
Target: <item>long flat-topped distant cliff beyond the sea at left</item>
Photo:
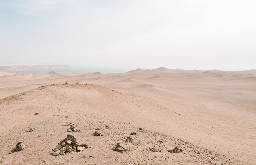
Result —
<instances>
[{"instance_id":1,"label":"long flat-topped distant cliff beyond the sea at left","mask_svg":"<svg viewBox=\"0 0 256 165\"><path fill-rule=\"evenodd\" d=\"M16 69L46 69L46 68L70 68L69 65L12 65L1 66L0 70L16 70Z\"/></svg>"}]
</instances>

